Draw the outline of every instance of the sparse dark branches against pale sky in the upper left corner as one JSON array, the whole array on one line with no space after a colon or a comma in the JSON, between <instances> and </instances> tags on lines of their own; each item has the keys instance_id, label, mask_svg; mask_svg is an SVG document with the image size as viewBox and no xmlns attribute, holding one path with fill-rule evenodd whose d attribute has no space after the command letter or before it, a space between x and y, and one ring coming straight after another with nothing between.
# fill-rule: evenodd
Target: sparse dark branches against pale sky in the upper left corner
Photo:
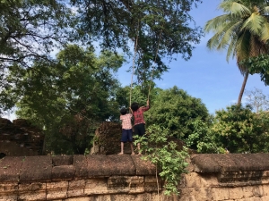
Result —
<instances>
[{"instance_id":1,"label":"sparse dark branches against pale sky in the upper left corner","mask_svg":"<svg viewBox=\"0 0 269 201\"><path fill-rule=\"evenodd\" d=\"M0 71L13 63L48 60L50 52L64 45L73 26L73 13L56 0L4 0L0 3Z\"/></svg>"}]
</instances>

